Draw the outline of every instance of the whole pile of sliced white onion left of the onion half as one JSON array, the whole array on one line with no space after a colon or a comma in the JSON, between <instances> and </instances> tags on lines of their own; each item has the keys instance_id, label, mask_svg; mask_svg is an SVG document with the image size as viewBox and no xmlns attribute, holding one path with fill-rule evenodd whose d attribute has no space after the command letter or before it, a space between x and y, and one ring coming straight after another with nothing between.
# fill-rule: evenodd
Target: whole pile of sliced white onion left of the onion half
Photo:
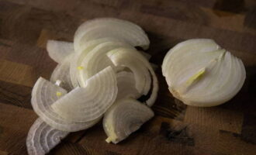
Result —
<instances>
[{"instance_id":1,"label":"whole pile of sliced white onion left of the onion half","mask_svg":"<svg viewBox=\"0 0 256 155\"><path fill-rule=\"evenodd\" d=\"M48 40L47 52L58 64L50 81L40 77L33 87L31 103L40 118L29 130L29 155L48 153L68 133L88 129L102 117L112 143L152 118L150 106L158 91L155 65L148 53L135 48L145 50L149 43L140 26L112 18L82 23L74 43ZM137 101L142 95L150 96L145 103Z\"/></svg>"}]
</instances>

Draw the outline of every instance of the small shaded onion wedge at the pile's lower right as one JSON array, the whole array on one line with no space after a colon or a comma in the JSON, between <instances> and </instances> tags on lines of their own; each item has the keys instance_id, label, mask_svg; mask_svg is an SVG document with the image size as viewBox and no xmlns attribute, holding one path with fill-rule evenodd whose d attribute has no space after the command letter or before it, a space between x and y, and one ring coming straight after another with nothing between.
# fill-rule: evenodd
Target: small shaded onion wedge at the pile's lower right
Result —
<instances>
[{"instance_id":1,"label":"small shaded onion wedge at the pile's lower right","mask_svg":"<svg viewBox=\"0 0 256 155\"><path fill-rule=\"evenodd\" d=\"M154 112L137 100L120 99L104 115L103 128L108 136L106 141L119 143L153 116Z\"/></svg>"}]
</instances>

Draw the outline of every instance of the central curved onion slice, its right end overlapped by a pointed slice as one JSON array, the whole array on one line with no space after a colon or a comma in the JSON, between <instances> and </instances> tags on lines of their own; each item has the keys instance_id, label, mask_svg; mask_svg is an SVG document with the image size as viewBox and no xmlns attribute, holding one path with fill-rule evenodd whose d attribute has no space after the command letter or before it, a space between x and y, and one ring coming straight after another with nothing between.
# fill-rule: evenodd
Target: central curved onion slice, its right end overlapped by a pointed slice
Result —
<instances>
[{"instance_id":1,"label":"central curved onion slice, its right end overlapped by a pointed slice","mask_svg":"<svg viewBox=\"0 0 256 155\"><path fill-rule=\"evenodd\" d=\"M106 53L119 47L134 49L129 44L110 41L99 44L86 55L85 59L82 60L81 69L78 70L77 78L81 87L85 87L85 81L102 71L102 69L108 66L117 69L109 60L109 57L106 56Z\"/></svg>"}]
</instances>

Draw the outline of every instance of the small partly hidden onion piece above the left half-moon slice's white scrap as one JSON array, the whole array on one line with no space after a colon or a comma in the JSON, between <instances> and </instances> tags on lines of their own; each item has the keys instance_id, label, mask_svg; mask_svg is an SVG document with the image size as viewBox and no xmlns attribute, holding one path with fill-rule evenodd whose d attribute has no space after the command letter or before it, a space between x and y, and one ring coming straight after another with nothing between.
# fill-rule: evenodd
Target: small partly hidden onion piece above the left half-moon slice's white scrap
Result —
<instances>
[{"instance_id":1,"label":"small partly hidden onion piece above the left half-moon slice's white scrap","mask_svg":"<svg viewBox=\"0 0 256 155\"><path fill-rule=\"evenodd\" d=\"M65 57L60 64L57 64L53 73L50 76L50 81L55 83L56 81L61 81L61 87L67 91L71 91L74 87L71 82L70 66L73 54L69 57Z\"/></svg>"}]
</instances>

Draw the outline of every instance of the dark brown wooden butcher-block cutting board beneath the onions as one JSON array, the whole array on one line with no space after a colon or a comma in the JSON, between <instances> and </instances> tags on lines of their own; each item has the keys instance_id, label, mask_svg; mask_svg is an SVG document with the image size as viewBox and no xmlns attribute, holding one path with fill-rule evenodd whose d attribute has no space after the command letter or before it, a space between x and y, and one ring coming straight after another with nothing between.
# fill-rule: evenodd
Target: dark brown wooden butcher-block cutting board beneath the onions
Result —
<instances>
[{"instance_id":1,"label":"dark brown wooden butcher-block cutting board beneath the onions","mask_svg":"<svg viewBox=\"0 0 256 155\"><path fill-rule=\"evenodd\" d=\"M0 0L0 155L27 154L26 134L37 118L31 89L57 65L47 55L47 40L72 41L81 22L106 16L147 31L147 52L158 65L156 116L117 145L105 142L99 124L71 133L50 154L256 154L255 0ZM190 38L212 38L243 60L247 79L230 102L195 108L169 93L163 57Z\"/></svg>"}]
</instances>

